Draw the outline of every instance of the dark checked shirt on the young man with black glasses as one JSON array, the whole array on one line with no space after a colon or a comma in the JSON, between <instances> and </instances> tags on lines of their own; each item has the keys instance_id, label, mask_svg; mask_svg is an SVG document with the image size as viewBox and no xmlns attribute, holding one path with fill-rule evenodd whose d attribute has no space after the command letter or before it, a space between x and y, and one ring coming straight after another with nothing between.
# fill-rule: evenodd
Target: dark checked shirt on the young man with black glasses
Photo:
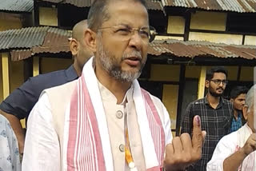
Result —
<instances>
[{"instance_id":1,"label":"dark checked shirt on the young man with black glasses","mask_svg":"<svg viewBox=\"0 0 256 171\"><path fill-rule=\"evenodd\" d=\"M210 106L207 97L191 102L182 119L182 133L192 134L195 115L201 117L202 130L206 130L206 139L202 146L202 159L190 166L188 170L205 171L207 162L210 161L218 141L230 131L233 105L222 97L220 97L216 109Z\"/></svg>"}]
</instances>

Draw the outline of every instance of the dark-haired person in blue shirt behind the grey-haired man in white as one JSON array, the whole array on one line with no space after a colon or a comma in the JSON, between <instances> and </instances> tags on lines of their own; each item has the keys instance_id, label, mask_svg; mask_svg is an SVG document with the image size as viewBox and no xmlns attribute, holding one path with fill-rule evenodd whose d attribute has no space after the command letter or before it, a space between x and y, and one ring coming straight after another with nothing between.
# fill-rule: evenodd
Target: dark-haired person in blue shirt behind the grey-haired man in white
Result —
<instances>
[{"instance_id":1,"label":"dark-haired person in blue shirt behind the grey-haired man in white","mask_svg":"<svg viewBox=\"0 0 256 171\"><path fill-rule=\"evenodd\" d=\"M246 123L242 115L242 108L245 105L247 91L248 89L246 86L235 86L234 89L230 91L230 101L233 103L234 107L230 133L237 131Z\"/></svg>"}]
</instances>

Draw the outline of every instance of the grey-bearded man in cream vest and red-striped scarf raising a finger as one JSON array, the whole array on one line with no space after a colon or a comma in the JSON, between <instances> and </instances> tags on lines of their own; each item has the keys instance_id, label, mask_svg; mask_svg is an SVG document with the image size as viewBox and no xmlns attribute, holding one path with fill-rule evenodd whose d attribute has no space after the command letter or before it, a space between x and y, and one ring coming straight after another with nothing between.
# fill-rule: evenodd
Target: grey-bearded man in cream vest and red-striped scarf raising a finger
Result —
<instances>
[{"instance_id":1,"label":"grey-bearded man in cream vest and red-striped scarf raising a finger","mask_svg":"<svg viewBox=\"0 0 256 171\"><path fill-rule=\"evenodd\" d=\"M194 137L172 138L162 102L137 78L151 39L143 0L95 0L84 42L94 52L77 81L46 89L28 121L26 171L183 170L201 158Z\"/></svg>"}]
</instances>

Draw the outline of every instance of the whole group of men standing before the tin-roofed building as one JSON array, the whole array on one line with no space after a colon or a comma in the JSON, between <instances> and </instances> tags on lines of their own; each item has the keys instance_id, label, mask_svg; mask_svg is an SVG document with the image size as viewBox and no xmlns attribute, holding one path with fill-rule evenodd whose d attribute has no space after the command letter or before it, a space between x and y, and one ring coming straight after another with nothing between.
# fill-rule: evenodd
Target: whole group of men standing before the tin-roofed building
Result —
<instances>
[{"instance_id":1,"label":"whole group of men standing before the tin-roofed building","mask_svg":"<svg viewBox=\"0 0 256 171\"><path fill-rule=\"evenodd\" d=\"M228 73L212 67L172 137L166 107L137 80L150 40L144 0L95 0L69 38L74 64L2 101L0 170L255 170L256 85L227 100Z\"/></svg>"}]
</instances>

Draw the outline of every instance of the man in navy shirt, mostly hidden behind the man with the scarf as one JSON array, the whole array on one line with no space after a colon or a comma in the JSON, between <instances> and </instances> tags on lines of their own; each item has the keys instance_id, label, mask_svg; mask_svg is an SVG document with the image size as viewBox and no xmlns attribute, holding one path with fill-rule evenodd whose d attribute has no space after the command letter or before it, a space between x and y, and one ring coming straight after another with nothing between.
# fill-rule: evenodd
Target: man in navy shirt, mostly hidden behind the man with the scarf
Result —
<instances>
[{"instance_id":1,"label":"man in navy shirt, mostly hidden behind the man with the scarf","mask_svg":"<svg viewBox=\"0 0 256 171\"><path fill-rule=\"evenodd\" d=\"M70 38L70 51L74 57L74 63L66 70L58 70L47 74L39 74L29 78L13 93L10 93L0 105L0 113L5 116L14 129L18 139L19 153L23 153L25 131L22 129L20 120L28 118L31 109L38 101L43 89L62 85L77 79L82 72L82 66L93 55L83 42L83 36L87 29L87 22L78 22L72 31Z\"/></svg>"}]
</instances>

